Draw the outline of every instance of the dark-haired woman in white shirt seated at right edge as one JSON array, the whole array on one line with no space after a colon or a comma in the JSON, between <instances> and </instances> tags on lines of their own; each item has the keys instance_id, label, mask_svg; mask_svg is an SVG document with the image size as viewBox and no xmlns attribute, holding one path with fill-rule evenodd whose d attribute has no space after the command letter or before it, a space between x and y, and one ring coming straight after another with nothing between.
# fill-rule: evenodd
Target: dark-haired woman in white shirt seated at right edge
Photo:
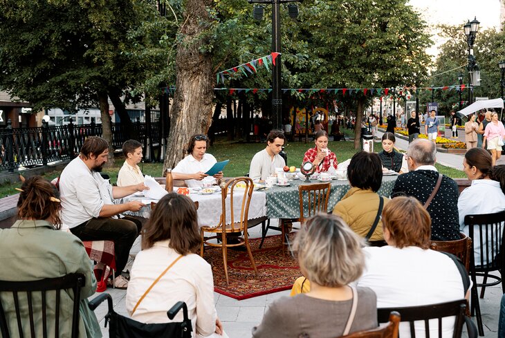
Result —
<instances>
[{"instance_id":1,"label":"dark-haired woman in white shirt seated at right edge","mask_svg":"<svg viewBox=\"0 0 505 338\"><path fill-rule=\"evenodd\" d=\"M470 187L461 191L458 199L459 228L467 235L466 215L494 214L505 209L505 195L500 183L491 179L492 163L493 158L482 148L469 149L463 158L463 171L468 180L472 181ZM473 237L475 264L480 265L480 241L477 239L480 238L479 229L474 229ZM487 263L486 259L484 263Z\"/></svg>"}]
</instances>

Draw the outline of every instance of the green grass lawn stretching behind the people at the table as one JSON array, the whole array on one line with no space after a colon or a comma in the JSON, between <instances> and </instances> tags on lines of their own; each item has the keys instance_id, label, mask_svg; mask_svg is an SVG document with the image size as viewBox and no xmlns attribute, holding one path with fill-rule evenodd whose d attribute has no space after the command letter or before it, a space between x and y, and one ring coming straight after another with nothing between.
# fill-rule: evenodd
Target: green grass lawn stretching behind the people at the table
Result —
<instances>
[{"instance_id":1,"label":"green grass lawn stretching behind the people at the table","mask_svg":"<svg viewBox=\"0 0 505 338\"><path fill-rule=\"evenodd\" d=\"M309 141L305 144L304 142L288 142L286 153L288 154L288 165L294 165L300 167L304 157L304 153L309 147L313 147L314 143ZM249 164L252 156L255 155L261 149L264 149L264 143L241 143L241 142L229 142L226 140L217 140L210 149L209 153L212 153L218 161L230 160L230 163L226 166L223 173L225 177L236 177L244 176L249 171ZM328 148L335 152L337 155L338 162L343 162L353 156L356 150L353 149L353 142L335 142L330 141L328 143ZM376 151L380 151L380 144L376 144ZM121 168L124 159L116 158L113 167L104 168L103 173L107 173L111 176L111 182L116 183L118 179L118 171ZM161 176L163 170L163 163L140 163L140 168L146 175L159 177ZM450 167L444 167L443 165L436 165L437 169L446 176L450 178L465 178L463 171L457 169L452 169ZM44 178L47 180L52 180L53 178L59 176L59 171L50 171L44 173ZM20 187L21 182L17 184L4 183L0 185L0 196L9 196L12 194L17 194L15 190L16 187Z\"/></svg>"}]
</instances>

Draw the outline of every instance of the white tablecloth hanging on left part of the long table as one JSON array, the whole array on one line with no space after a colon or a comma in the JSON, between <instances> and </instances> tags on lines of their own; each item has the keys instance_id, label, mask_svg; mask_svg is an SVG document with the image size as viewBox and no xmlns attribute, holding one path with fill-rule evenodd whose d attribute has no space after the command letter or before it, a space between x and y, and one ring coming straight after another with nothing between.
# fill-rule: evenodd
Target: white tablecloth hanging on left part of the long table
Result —
<instances>
[{"instance_id":1,"label":"white tablecloth hanging on left part of the long table","mask_svg":"<svg viewBox=\"0 0 505 338\"><path fill-rule=\"evenodd\" d=\"M211 195L190 194L190 198L198 201L198 223L203 226L216 226L219 224L219 219L222 213L221 191ZM234 191L233 194L233 209L235 210L235 222L240 220L240 211L242 207L242 199L244 194L241 191ZM125 212L125 214L149 218L151 214L150 202L158 202L157 200L146 200L145 197L127 196L123 198L126 203L129 200L143 200L147 204L146 207L140 209L139 212ZM226 223L231 222L230 214L230 195L226 198ZM249 205L248 219L260 218L266 216L266 194L263 191L253 191Z\"/></svg>"}]
</instances>

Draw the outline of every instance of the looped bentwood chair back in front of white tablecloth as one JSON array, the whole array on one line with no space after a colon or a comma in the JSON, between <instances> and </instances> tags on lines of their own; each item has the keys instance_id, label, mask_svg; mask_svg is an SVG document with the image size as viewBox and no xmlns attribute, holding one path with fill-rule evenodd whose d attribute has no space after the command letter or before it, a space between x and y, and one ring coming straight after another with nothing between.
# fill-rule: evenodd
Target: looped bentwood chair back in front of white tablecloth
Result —
<instances>
[{"instance_id":1,"label":"looped bentwood chair back in front of white tablecloth","mask_svg":"<svg viewBox=\"0 0 505 338\"><path fill-rule=\"evenodd\" d=\"M239 187L237 184L241 183ZM232 178L226 182L225 187L221 189L221 226L223 229L227 223L231 225L231 232L243 232L247 229L248 214L250 199L252 197L252 190L254 189L254 182L248 177ZM229 194L228 194L229 193ZM235 217L235 198L234 196L242 195L242 203L239 218ZM228 203L229 202L229 203ZM226 209L229 209L230 222L226 221Z\"/></svg>"}]
</instances>

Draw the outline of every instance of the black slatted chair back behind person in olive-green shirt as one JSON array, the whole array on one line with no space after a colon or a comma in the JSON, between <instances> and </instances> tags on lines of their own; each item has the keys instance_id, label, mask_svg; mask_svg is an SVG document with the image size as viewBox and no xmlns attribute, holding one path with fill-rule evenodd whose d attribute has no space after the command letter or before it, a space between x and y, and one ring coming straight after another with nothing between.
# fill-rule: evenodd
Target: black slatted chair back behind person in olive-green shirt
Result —
<instances>
[{"instance_id":1,"label":"black slatted chair back behind person in olive-green shirt","mask_svg":"<svg viewBox=\"0 0 505 338\"><path fill-rule=\"evenodd\" d=\"M38 281L0 281L0 332L1 337L35 337L42 325L44 337L60 337L60 328L68 327L60 319L62 312L71 312L71 338L79 335L80 292L84 286L84 274L67 274L58 278ZM72 308L65 308L62 291L73 291ZM53 292L55 291L54 303ZM47 296L49 294L49 296ZM2 300L3 299L3 300ZM7 308L12 299L14 309ZM48 301L50 299L50 301ZM8 302L8 304L4 303ZM40 310L38 310L40 309ZM11 332L12 323L15 332ZM49 332L53 330L54 332Z\"/></svg>"}]
</instances>

